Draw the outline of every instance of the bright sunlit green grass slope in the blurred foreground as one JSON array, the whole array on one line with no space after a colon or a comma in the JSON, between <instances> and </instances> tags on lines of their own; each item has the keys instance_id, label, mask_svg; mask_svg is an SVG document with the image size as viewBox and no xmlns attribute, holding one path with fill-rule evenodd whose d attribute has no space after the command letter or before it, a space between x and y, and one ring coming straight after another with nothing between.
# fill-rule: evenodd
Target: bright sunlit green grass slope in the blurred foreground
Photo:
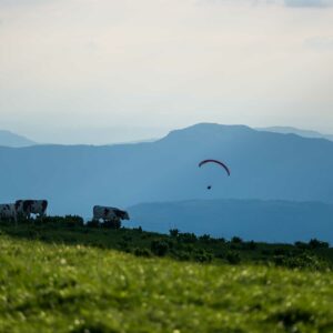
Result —
<instances>
[{"instance_id":1,"label":"bright sunlit green grass slope in the blurred foreground","mask_svg":"<svg viewBox=\"0 0 333 333\"><path fill-rule=\"evenodd\" d=\"M333 273L2 234L0 332L333 332Z\"/></svg>"}]
</instances>

